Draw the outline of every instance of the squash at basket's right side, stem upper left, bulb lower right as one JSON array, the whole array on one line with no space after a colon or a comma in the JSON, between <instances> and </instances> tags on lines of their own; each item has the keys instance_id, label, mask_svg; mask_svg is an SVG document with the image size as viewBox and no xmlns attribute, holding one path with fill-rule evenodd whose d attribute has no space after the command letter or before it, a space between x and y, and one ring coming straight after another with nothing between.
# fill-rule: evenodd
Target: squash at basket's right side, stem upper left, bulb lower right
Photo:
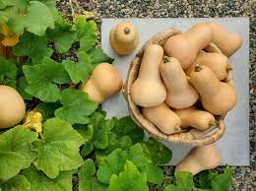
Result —
<instances>
[{"instance_id":1,"label":"squash at basket's right side, stem upper left, bulb lower right","mask_svg":"<svg viewBox=\"0 0 256 191\"><path fill-rule=\"evenodd\" d=\"M207 66L199 65L195 70L190 73L190 82L199 93L204 108L215 115L230 110L236 103L233 87L220 82Z\"/></svg>"}]
</instances>

